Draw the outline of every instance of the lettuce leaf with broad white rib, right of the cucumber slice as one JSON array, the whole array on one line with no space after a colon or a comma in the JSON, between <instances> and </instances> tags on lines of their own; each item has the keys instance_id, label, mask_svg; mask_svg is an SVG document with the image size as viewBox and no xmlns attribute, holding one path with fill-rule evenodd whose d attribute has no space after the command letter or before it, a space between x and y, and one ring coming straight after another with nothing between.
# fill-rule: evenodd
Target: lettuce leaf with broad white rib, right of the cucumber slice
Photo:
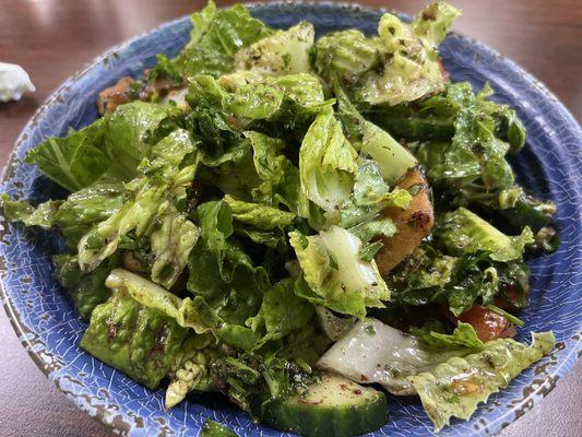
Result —
<instances>
[{"instance_id":1,"label":"lettuce leaf with broad white rib, right of the cucumber slice","mask_svg":"<svg viewBox=\"0 0 582 437\"><path fill-rule=\"evenodd\" d=\"M431 344L366 319L329 349L318 366L356 382L381 383L394 394L419 394L439 430L452 415L467 420L478 402L506 387L555 344L551 332L534 333L531 346L512 339L482 343L468 326L451 335L424 336Z\"/></svg>"}]
</instances>

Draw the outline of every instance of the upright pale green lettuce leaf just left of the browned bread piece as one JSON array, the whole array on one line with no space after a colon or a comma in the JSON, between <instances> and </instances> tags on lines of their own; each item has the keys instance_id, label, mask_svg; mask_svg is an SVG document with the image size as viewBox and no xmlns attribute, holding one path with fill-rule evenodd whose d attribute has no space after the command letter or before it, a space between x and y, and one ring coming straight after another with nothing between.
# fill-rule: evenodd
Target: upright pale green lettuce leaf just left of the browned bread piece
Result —
<instances>
[{"instance_id":1,"label":"upright pale green lettuce leaf just left of the browned bread piece","mask_svg":"<svg viewBox=\"0 0 582 437\"><path fill-rule=\"evenodd\" d=\"M412 199L405 190L391 190L389 184L415 164L414 157L380 128L361 123L357 111L346 110L349 115L341 115L343 123L331 109L322 110L299 150L301 192L310 201L300 214L316 229L355 226L387 206L405 208ZM346 129L354 144L343 132L352 122L358 125L356 133Z\"/></svg>"}]
</instances>

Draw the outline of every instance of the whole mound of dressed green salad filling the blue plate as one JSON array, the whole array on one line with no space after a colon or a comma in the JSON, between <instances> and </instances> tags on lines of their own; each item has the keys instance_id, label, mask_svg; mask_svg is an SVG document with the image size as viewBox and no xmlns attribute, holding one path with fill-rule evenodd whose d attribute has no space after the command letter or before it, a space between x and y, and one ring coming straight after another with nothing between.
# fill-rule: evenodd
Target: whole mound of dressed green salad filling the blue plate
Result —
<instances>
[{"instance_id":1,"label":"whole mound of dressed green salad filling the blue plate","mask_svg":"<svg viewBox=\"0 0 582 437\"><path fill-rule=\"evenodd\" d=\"M382 426L384 391L418 394L438 430L547 354L551 332L511 336L524 257L559 244L555 206L515 184L514 110L449 80L456 15L433 3L316 39L211 1L176 58L33 149L70 194L3 212L66 240L81 347L167 387L168 409L219 392L325 437Z\"/></svg>"}]
</instances>

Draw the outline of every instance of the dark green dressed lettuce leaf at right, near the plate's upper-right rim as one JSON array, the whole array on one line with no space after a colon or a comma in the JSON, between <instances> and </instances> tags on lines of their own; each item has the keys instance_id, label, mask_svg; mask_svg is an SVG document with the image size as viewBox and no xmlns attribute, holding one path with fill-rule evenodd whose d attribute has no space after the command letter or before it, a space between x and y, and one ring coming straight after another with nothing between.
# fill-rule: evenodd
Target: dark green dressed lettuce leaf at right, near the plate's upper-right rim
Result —
<instances>
[{"instance_id":1,"label":"dark green dressed lettuce leaf at right, near the plate's upper-right rim","mask_svg":"<svg viewBox=\"0 0 582 437\"><path fill-rule=\"evenodd\" d=\"M491 93L485 85L475 94L471 84L463 82L450 84L443 94L421 103L421 117L444 120L453 132L451 138L441 138L449 142L424 143L416 153L431 184L460 191L461 197L464 191L471 197L475 185L482 194L513 185L506 154L523 146L525 130L511 108L487 99ZM390 118L388 113L383 117Z\"/></svg>"}]
</instances>

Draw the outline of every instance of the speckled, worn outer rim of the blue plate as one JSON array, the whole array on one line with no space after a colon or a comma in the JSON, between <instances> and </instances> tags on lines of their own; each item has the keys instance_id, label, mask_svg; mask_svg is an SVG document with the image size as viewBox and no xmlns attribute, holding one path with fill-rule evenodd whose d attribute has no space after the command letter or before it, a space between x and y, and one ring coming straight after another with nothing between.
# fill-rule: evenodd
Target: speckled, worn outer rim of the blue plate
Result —
<instances>
[{"instance_id":1,"label":"speckled, worn outer rim of the blue plate","mask_svg":"<svg viewBox=\"0 0 582 437\"><path fill-rule=\"evenodd\" d=\"M241 2L245 7L249 9L249 11L252 13L256 9L261 8L274 8L274 7L293 7L297 4L304 4L304 5L313 5L313 7L331 7L331 8L337 8L337 9L347 9L347 10L357 10L357 11L367 11L367 12L377 12L377 13L395 13L400 16L408 17L407 14L402 13L401 11L389 9L389 8L377 8L377 7L370 7L367 4L361 4L358 2L346 2L346 1L292 1L292 0L274 0L274 1L258 1L258 2ZM221 7L221 9L223 9ZM195 11L193 11L195 12ZM182 22L183 20L188 19L190 14L181 15L171 20L164 21L163 23L150 28L149 31L139 33L134 36L132 36L129 39L123 40L120 44L114 45L106 49L103 54L98 55L97 57L93 58L91 61L84 63L83 67L81 67L79 70L76 70L73 74L69 75L67 79L64 79L48 96L47 98L40 104L40 106L34 111L34 114L31 116L31 118L26 121L22 130L20 131L14 145L7 158L7 163L2 169L2 173L0 175L0 186L3 186L4 182L9 179L10 174L14 166L16 165L16 151L22 146L22 143L26 140L26 132L31 130L37 119L41 118L44 116L44 113L60 97L62 93L67 91L67 87L70 83L75 82L78 79L82 78L83 75L90 73L93 68L95 68L97 64L103 62L105 59L108 59L115 54L119 52L123 48L130 46L131 44L155 33L158 31L162 31L166 27L173 27L177 23ZM476 47L479 51L484 51L489 56L497 57L503 60L503 62L511 69L513 72L518 73L521 78L523 78L524 82L527 82L528 84L533 85L538 93L541 93L544 98L546 98L548 102L551 103L553 109L559 113L562 117L566 118L566 123L571 127L578 128L579 138L582 139L582 131L580 128L579 122L573 117L573 115L570 113L570 110L563 105L563 103L545 85L545 83L537 78L535 78L532 73L530 73L527 70L525 70L520 63L513 61L511 58L508 58L507 56L500 54L496 49L490 48L489 46L485 45L484 43L480 43L479 40L466 36L459 32L450 32L451 35L453 35L456 38L460 38L461 40L464 40L465 43L468 43L471 46ZM582 150L582 147L581 147ZM0 211L1 215L1 211ZM5 233L5 229L0 229L0 237ZM1 272L4 272L4 269L1 269ZM28 327L21 320L21 318L17 315L16 309L14 308L13 304L10 299L10 294L5 290L5 284L3 277L0 277L0 300L2 302L2 306L4 308L4 312L7 315L8 320L10 321L10 324L12 326L14 332L17 335L17 340L24 347L24 350L27 352L28 356L32 358L32 361L35 363L35 365L43 371L45 377L56 386L56 388L62 392L69 402L71 402L75 408L84 411L90 417L92 417L94 421L99 422L102 425L104 425L107 429L111 430L115 434L122 434L123 430L117 428L115 426L115 423L107 420L107 409L96 409L95 412L90 411L82 402L78 400L76 397L64 392L61 387L57 383L57 381L54 378L50 378L51 370L48 368L48 366L43 362L39 354L37 354L34 351L34 344L28 339L28 333L34 333L35 331L32 331L28 329ZM533 408L538 405L542 400L545 399L545 397L554 390L557 383L560 383L563 376L566 376L568 373L570 373L575 364L578 363L579 356L574 359L572 358L572 355L580 355L580 352L582 351L582 322L579 320L578 326L578 340L575 343L572 344L571 350L569 351L566 358L563 358L558 366L556 366L555 370L547 375L544 382L541 383L535 390L533 390L528 395L524 397L520 400L518 404L512 405L511 409L507 409L506 413L501 416L495 417L494 421L487 423L487 435L497 435L501 429L510 425L511 423L519 420L523 414L531 411ZM549 388L546 387L546 383L551 379L556 377L557 380L555 383L550 383ZM533 401L532 406L530 409L523 409L523 406L527 403ZM512 421L510 422L500 422L509 414L515 414ZM131 429L130 429L131 432ZM282 432L281 432L282 433Z\"/></svg>"}]
</instances>

